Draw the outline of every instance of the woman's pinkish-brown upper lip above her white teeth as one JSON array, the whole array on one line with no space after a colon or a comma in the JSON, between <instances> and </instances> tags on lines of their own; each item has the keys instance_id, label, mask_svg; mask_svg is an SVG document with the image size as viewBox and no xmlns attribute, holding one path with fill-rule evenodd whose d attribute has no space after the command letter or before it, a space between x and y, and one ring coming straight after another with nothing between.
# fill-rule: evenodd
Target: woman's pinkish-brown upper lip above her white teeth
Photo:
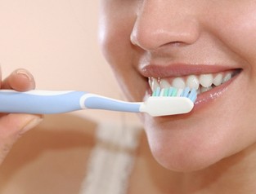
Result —
<instances>
[{"instance_id":1,"label":"woman's pinkish-brown upper lip above her white teeth","mask_svg":"<svg viewBox=\"0 0 256 194\"><path fill-rule=\"evenodd\" d=\"M139 71L143 77L182 77L207 73L218 73L236 69L234 66L213 64L144 64Z\"/></svg>"}]
</instances>

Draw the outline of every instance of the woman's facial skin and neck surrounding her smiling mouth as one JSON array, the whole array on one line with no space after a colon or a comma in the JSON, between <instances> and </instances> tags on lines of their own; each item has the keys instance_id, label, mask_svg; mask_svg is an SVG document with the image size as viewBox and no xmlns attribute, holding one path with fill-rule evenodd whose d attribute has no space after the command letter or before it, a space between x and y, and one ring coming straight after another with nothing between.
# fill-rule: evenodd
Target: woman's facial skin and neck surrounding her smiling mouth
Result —
<instances>
[{"instance_id":1,"label":"woman's facial skin and neck surrounding her smiling mouth","mask_svg":"<svg viewBox=\"0 0 256 194\"><path fill-rule=\"evenodd\" d=\"M190 114L140 115L150 151L166 169L163 187L175 193L255 191L255 8L250 0L101 1L102 51L129 100L149 95L147 64L241 69Z\"/></svg>"}]
</instances>

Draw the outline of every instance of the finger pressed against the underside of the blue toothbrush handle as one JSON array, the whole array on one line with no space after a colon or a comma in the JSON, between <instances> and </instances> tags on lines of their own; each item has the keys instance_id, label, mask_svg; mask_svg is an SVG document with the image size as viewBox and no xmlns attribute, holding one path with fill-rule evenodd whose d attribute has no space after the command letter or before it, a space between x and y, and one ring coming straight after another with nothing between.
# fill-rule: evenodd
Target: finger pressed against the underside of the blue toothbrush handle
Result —
<instances>
[{"instance_id":1,"label":"finger pressed against the underside of the blue toothbrush handle","mask_svg":"<svg viewBox=\"0 0 256 194\"><path fill-rule=\"evenodd\" d=\"M29 114L8 114L0 118L0 165L13 143L40 121L43 121L41 115Z\"/></svg>"}]
</instances>

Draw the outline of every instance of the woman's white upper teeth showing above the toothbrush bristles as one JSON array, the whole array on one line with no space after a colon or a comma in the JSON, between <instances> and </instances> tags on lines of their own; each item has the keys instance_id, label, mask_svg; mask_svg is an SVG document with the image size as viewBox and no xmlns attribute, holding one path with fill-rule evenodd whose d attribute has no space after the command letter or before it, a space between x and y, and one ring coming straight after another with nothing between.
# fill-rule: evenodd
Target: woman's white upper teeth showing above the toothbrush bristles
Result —
<instances>
[{"instance_id":1,"label":"woman's white upper teeth showing above the toothbrush bristles","mask_svg":"<svg viewBox=\"0 0 256 194\"><path fill-rule=\"evenodd\" d=\"M151 90L155 90L157 87L168 88L176 87L177 89L184 89L186 86L195 88L198 93L212 89L214 86L219 86L224 82L227 82L232 77L231 72L226 73L209 73L201 75L190 75L186 77L174 77L174 78L149 78L149 84Z\"/></svg>"}]
</instances>

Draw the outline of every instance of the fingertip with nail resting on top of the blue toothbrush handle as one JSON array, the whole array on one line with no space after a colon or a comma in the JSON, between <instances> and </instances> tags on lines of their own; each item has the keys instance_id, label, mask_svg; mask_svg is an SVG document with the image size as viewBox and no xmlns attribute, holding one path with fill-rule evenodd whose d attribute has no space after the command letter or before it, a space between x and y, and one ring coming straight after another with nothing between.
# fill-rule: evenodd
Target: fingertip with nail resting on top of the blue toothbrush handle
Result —
<instances>
[{"instance_id":1,"label":"fingertip with nail resting on top of the blue toothbrush handle","mask_svg":"<svg viewBox=\"0 0 256 194\"><path fill-rule=\"evenodd\" d=\"M34 77L24 68L16 69L1 83L1 88L18 91L33 90L35 88Z\"/></svg>"}]
</instances>

